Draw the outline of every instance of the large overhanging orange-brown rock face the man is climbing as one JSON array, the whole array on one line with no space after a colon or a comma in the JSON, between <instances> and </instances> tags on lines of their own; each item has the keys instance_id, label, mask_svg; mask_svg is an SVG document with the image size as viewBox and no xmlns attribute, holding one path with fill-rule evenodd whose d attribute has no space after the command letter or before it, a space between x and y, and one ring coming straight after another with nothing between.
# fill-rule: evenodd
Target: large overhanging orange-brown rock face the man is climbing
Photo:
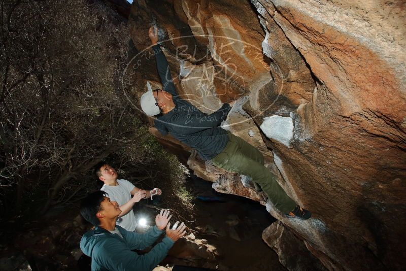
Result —
<instances>
[{"instance_id":1,"label":"large overhanging orange-brown rock face the man is climbing","mask_svg":"<svg viewBox=\"0 0 406 271\"><path fill-rule=\"evenodd\" d=\"M152 20L160 26L179 93L205 112L241 98L223 127L258 148L287 193L313 212L312 219L298 221L266 203L297 236L291 242L302 242L296 247L302 252L306 247L328 269L401 269L406 256L404 2L154 3L131 6L134 61L142 63L142 69L133 66L134 89L140 93L146 80L159 81L153 58L143 53L150 52ZM259 129L264 117L276 115L293 121L290 144ZM190 149L150 131L184 163L188 160L196 174L214 181L216 190L265 203L264 195L244 187L239 176L196 156L187 159ZM290 249L278 248L281 262ZM314 264L315 269L320 265Z\"/></svg>"}]
</instances>

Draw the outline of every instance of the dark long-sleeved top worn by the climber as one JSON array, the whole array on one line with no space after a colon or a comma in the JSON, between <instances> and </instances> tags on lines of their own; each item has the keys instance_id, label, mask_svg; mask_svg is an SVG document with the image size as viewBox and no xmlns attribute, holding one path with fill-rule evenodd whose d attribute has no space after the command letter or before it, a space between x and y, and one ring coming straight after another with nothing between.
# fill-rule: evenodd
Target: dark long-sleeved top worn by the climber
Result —
<instances>
[{"instance_id":1,"label":"dark long-sleeved top worn by the climber","mask_svg":"<svg viewBox=\"0 0 406 271\"><path fill-rule=\"evenodd\" d=\"M163 90L172 94L176 105L170 112L157 117L155 127L163 136L169 132L180 142L195 149L202 159L212 159L227 145L226 130L219 125L226 119L230 106L224 104L219 110L208 115L179 97L162 49L159 45L154 45L152 49Z\"/></svg>"}]
</instances>

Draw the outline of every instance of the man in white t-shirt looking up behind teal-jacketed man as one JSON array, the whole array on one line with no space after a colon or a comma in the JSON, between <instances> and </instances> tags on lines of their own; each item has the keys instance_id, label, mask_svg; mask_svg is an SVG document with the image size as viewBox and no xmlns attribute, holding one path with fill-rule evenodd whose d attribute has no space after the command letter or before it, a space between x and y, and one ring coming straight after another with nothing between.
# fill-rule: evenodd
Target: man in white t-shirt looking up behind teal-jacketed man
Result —
<instances>
[{"instance_id":1,"label":"man in white t-shirt looking up behind teal-jacketed man","mask_svg":"<svg viewBox=\"0 0 406 271\"><path fill-rule=\"evenodd\" d=\"M134 204L143 198L150 198L151 194L160 195L162 193L159 188L146 191L127 180L117 180L117 172L106 162L98 163L94 167L94 173L100 181L104 182L100 190L107 192L110 200L117 202L120 206L121 214L117 219L117 225L128 231L134 231L137 226L136 217L132 211Z\"/></svg>"}]
</instances>

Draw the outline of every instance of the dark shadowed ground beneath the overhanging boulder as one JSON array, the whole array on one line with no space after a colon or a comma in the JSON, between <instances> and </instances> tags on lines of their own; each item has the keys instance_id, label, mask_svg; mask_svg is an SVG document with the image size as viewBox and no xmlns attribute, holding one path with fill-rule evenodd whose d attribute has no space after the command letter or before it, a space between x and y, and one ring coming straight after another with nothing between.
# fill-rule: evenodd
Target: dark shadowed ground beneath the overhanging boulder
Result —
<instances>
[{"instance_id":1,"label":"dark shadowed ground beneath the overhanging boulder","mask_svg":"<svg viewBox=\"0 0 406 271\"><path fill-rule=\"evenodd\" d=\"M286 270L276 252L261 238L263 229L276 221L264 206L247 198L217 193L211 188L212 183L201 179L189 179L189 182L196 197L223 200L195 200L196 224L210 225L219 233L198 233L197 237L206 239L218 249L222 265L229 270Z\"/></svg>"}]
</instances>

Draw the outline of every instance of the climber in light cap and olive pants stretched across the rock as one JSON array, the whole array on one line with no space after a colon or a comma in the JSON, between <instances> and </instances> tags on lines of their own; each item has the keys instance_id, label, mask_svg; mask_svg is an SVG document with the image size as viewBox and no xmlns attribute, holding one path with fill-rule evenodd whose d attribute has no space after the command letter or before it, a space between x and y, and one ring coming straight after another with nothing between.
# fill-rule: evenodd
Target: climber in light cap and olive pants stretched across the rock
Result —
<instances>
[{"instance_id":1,"label":"climber in light cap and olive pants stretched across the rock","mask_svg":"<svg viewBox=\"0 0 406 271\"><path fill-rule=\"evenodd\" d=\"M158 44L158 29L151 27L148 33L163 90L152 90L147 82L148 91L141 96L141 108L148 116L156 116L155 128L163 136L171 133L174 138L195 149L202 159L211 160L215 166L251 177L282 213L309 219L311 213L296 205L278 184L276 176L264 166L262 154L243 139L219 127L235 101L225 103L208 115L180 98Z\"/></svg>"}]
</instances>

